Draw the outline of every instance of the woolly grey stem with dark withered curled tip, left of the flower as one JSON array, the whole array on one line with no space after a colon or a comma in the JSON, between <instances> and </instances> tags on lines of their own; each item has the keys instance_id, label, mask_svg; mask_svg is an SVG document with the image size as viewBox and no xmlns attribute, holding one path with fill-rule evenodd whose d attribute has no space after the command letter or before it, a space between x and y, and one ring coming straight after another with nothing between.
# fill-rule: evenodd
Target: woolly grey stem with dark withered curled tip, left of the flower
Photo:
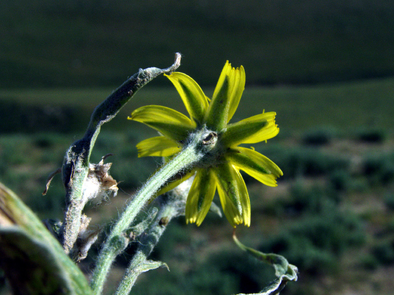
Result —
<instances>
[{"instance_id":1,"label":"woolly grey stem with dark withered curled tip, left of the flower","mask_svg":"<svg viewBox=\"0 0 394 295\"><path fill-rule=\"evenodd\" d=\"M112 92L93 111L84 137L73 143L67 150L62 168L63 183L66 188L66 211L62 229L65 252L68 253L77 239L81 225L82 210L87 197L84 196L84 182L89 172L89 160L101 125L110 121L130 100L135 92L158 75L174 71L180 65L181 55L175 55L175 62L166 69L151 67L139 69L118 89Z\"/></svg>"}]
</instances>

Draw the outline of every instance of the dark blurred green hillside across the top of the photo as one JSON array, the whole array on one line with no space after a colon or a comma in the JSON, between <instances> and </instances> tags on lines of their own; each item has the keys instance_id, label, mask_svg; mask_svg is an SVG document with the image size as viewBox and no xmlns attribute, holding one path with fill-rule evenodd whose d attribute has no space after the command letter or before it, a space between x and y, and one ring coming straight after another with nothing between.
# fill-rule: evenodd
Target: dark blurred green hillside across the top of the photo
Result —
<instances>
[{"instance_id":1,"label":"dark blurred green hillside across the top of the photo","mask_svg":"<svg viewBox=\"0 0 394 295\"><path fill-rule=\"evenodd\" d=\"M2 0L0 87L113 86L136 67L212 85L226 59L252 84L394 74L389 0Z\"/></svg>"}]
</instances>

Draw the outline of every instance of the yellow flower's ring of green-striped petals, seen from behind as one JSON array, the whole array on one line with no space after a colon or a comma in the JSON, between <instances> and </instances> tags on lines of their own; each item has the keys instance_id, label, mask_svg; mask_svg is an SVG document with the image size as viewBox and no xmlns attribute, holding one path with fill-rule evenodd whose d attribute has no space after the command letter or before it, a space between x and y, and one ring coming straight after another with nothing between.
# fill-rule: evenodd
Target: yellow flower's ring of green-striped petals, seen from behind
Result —
<instances>
[{"instance_id":1,"label":"yellow flower's ring of green-striped petals, seen from behind","mask_svg":"<svg viewBox=\"0 0 394 295\"><path fill-rule=\"evenodd\" d=\"M261 153L238 145L254 144L276 136L279 132L275 124L276 114L263 113L229 123L245 87L243 67L232 68L229 61L211 100L191 77L179 72L165 76L179 92L190 118L164 106L145 106L132 112L129 119L142 122L162 135L138 143L138 156L174 156L186 144L190 134L201 128L212 130L217 142L216 148L201 162L182 178L169 182L159 194L196 173L186 202L186 222L201 224L217 189L230 224L233 227L240 223L249 226L249 195L239 170L269 186L276 186L275 179L283 173Z\"/></svg>"}]
</instances>

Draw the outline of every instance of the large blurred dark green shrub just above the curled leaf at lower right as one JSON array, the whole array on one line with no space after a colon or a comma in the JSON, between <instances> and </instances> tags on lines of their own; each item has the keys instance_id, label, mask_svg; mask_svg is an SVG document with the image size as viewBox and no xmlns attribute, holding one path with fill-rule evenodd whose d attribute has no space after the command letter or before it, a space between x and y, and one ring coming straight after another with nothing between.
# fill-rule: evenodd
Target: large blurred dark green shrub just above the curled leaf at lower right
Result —
<instances>
[{"instance_id":1,"label":"large blurred dark green shrub just above the curled leaf at lower right","mask_svg":"<svg viewBox=\"0 0 394 295\"><path fill-rule=\"evenodd\" d=\"M284 255L299 269L325 273L338 266L348 248L364 243L361 220L349 212L326 209L263 242L260 250Z\"/></svg>"}]
</instances>

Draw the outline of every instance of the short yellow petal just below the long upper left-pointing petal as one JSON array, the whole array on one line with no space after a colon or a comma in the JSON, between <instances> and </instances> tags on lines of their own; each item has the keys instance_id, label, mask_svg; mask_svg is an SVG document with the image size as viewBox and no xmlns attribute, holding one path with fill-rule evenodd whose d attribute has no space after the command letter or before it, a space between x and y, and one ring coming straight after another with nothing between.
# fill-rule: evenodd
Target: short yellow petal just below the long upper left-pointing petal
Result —
<instances>
[{"instance_id":1,"label":"short yellow petal just below the long upper left-pointing petal","mask_svg":"<svg viewBox=\"0 0 394 295\"><path fill-rule=\"evenodd\" d=\"M145 139L137 144L138 157L167 157L181 150L178 143L164 136Z\"/></svg>"}]
</instances>

